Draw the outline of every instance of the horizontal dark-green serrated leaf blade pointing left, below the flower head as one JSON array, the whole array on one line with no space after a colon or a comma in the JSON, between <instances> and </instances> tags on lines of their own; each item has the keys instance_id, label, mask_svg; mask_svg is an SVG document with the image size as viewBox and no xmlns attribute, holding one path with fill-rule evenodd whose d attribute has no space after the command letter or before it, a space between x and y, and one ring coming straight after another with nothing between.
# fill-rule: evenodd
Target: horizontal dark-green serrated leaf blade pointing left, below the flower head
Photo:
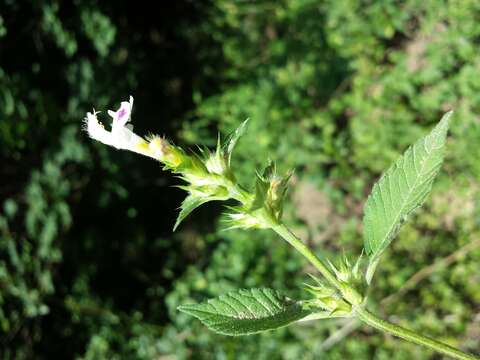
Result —
<instances>
[{"instance_id":1,"label":"horizontal dark-green serrated leaf blade pointing left, below the flower head","mask_svg":"<svg viewBox=\"0 0 480 360\"><path fill-rule=\"evenodd\" d=\"M239 336L276 329L311 312L272 289L230 292L207 302L179 306L219 334Z\"/></svg>"}]
</instances>

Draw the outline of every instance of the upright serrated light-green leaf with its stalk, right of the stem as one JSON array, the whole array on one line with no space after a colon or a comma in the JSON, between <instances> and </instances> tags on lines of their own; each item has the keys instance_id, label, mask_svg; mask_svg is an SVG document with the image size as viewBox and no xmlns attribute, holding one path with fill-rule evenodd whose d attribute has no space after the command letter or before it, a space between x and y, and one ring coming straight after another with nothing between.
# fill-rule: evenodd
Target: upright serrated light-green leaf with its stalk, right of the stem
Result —
<instances>
[{"instance_id":1,"label":"upright serrated light-green leaf with its stalk, right of the stem","mask_svg":"<svg viewBox=\"0 0 480 360\"><path fill-rule=\"evenodd\" d=\"M408 215L422 205L443 161L452 111L430 134L410 146L373 186L364 210L364 247L370 283L380 256Z\"/></svg>"}]
</instances>

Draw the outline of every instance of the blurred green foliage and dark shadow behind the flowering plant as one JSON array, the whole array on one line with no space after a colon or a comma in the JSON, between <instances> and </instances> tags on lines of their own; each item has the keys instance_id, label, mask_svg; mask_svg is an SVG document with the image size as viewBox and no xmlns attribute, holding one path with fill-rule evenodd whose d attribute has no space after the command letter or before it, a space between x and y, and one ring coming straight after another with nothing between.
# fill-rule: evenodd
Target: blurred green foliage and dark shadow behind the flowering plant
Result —
<instances>
[{"instance_id":1,"label":"blurred green foliage and dark shadow behind the flowering plant","mask_svg":"<svg viewBox=\"0 0 480 360\"><path fill-rule=\"evenodd\" d=\"M305 297L313 270L269 232L222 232L220 205L172 233L178 180L81 131L130 94L138 133L185 146L250 118L238 177L294 168L285 220L333 256L360 253L371 185L454 108L371 304L480 352L479 19L476 0L0 0L0 357L438 358L345 321L229 338L178 313L237 287Z\"/></svg>"}]
</instances>

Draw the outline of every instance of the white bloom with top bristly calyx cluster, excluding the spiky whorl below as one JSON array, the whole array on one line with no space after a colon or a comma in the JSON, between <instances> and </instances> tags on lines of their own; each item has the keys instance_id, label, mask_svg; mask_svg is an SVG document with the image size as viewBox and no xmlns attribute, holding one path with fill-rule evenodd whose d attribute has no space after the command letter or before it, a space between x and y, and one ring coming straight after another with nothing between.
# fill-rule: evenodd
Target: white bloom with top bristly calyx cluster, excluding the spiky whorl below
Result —
<instances>
[{"instance_id":1,"label":"white bloom with top bristly calyx cluster, excluding the spiky whorl below","mask_svg":"<svg viewBox=\"0 0 480 360\"><path fill-rule=\"evenodd\" d=\"M226 139L225 144L222 145L219 140L216 151L201 150L200 154L187 154L163 137L154 135L143 138L135 134L131 124L132 109L133 97L130 96L129 101L123 101L117 111L108 110L112 118L110 131L99 122L99 112L93 110L87 113L84 128L92 139L103 144L160 161L165 169L178 174L187 183L180 186L188 192L188 196L180 207L174 228L191 211L208 201L230 198L243 203L249 201L247 192L237 186L230 167L233 148L246 122Z\"/></svg>"}]
</instances>

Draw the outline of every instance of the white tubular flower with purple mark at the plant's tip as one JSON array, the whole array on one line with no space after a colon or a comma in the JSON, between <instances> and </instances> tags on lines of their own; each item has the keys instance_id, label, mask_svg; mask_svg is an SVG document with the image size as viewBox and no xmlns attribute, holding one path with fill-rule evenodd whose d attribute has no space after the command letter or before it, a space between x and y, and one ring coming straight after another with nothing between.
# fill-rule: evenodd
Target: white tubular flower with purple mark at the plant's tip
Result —
<instances>
[{"instance_id":1,"label":"white tubular flower with purple mark at the plant's tip","mask_svg":"<svg viewBox=\"0 0 480 360\"><path fill-rule=\"evenodd\" d=\"M88 112L85 118L85 129L92 139L106 145L150 156L145 139L132 131L133 126L131 124L127 124L130 121L132 108L133 97L130 96L129 101L122 101L117 111L108 110L108 114L113 118L111 131L105 130L98 121L98 111Z\"/></svg>"}]
</instances>

